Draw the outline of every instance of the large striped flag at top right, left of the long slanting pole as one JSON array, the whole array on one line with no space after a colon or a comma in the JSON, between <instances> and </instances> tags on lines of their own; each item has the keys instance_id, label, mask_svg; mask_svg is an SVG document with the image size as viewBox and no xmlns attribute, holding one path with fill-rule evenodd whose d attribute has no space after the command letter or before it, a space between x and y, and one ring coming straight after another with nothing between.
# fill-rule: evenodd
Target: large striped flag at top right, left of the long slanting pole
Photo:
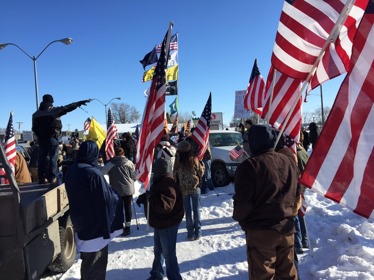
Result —
<instances>
[{"instance_id":1,"label":"large striped flag at top right, left of the long slanting pole","mask_svg":"<svg viewBox=\"0 0 374 280\"><path fill-rule=\"evenodd\" d=\"M306 79L347 0L286 0L272 65L292 78Z\"/></svg>"}]
</instances>

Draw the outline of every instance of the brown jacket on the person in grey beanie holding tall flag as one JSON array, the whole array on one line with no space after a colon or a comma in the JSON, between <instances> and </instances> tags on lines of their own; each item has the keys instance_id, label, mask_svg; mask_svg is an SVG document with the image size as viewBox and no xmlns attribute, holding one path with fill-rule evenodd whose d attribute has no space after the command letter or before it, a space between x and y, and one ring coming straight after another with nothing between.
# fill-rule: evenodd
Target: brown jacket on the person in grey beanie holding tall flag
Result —
<instances>
[{"instance_id":1,"label":"brown jacket on the person in grey beanie holding tall flag","mask_svg":"<svg viewBox=\"0 0 374 280\"><path fill-rule=\"evenodd\" d=\"M183 220L182 193L170 174L150 187L148 201L151 227L169 228ZM147 213L147 203L144 203L144 213Z\"/></svg>"}]
</instances>

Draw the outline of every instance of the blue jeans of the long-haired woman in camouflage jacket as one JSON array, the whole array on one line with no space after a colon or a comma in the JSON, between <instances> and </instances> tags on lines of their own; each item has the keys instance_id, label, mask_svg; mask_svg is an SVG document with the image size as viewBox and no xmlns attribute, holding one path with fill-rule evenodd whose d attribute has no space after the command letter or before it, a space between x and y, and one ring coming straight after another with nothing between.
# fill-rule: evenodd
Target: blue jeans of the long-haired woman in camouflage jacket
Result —
<instances>
[{"instance_id":1,"label":"blue jeans of the long-haired woman in camouflage jacket","mask_svg":"<svg viewBox=\"0 0 374 280\"><path fill-rule=\"evenodd\" d=\"M192 209L191 209L192 200ZM183 196L184 212L188 237L201 237L200 188L196 192ZM193 221L192 221L193 211Z\"/></svg>"}]
</instances>

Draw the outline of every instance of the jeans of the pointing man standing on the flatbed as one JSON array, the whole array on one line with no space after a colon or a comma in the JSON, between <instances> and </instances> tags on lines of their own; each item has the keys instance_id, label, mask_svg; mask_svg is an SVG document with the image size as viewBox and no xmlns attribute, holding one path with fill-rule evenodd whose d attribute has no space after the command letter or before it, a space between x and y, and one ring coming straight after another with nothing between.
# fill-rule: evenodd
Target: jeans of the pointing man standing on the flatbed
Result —
<instances>
[{"instance_id":1,"label":"jeans of the pointing man standing on the flatbed","mask_svg":"<svg viewBox=\"0 0 374 280\"><path fill-rule=\"evenodd\" d=\"M48 170L46 171L46 159L49 153ZM56 178L58 160L58 140L55 138L39 142L39 162L38 179L39 181L54 180Z\"/></svg>"}]
</instances>

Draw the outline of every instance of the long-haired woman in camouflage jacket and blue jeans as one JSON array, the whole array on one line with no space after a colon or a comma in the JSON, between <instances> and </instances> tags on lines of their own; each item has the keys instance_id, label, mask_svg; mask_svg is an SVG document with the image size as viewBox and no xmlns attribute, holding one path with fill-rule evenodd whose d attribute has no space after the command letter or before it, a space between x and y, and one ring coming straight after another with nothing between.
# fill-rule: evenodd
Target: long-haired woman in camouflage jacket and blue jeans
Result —
<instances>
[{"instance_id":1,"label":"long-haired woman in camouflage jacket and blue jeans","mask_svg":"<svg viewBox=\"0 0 374 280\"><path fill-rule=\"evenodd\" d=\"M174 177L182 191L184 212L186 213L187 238L191 241L201 238L200 186L204 169L204 165L194 156L190 143L182 141L178 145L175 158Z\"/></svg>"}]
</instances>

